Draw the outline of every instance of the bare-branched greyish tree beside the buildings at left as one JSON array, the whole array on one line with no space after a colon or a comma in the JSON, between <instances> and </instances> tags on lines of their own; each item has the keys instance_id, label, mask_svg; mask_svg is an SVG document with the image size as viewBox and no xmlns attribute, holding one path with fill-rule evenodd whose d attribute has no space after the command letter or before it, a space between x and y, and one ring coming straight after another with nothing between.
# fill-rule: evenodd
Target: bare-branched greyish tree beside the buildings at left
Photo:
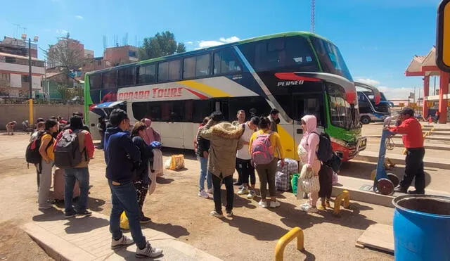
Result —
<instances>
[{"instance_id":1,"label":"bare-branched greyish tree beside the buildings at left","mask_svg":"<svg viewBox=\"0 0 450 261\"><path fill-rule=\"evenodd\" d=\"M58 43L50 45L49 50L45 52L49 68L58 67L63 72L63 77L56 80L57 90L66 103L70 98L72 91L68 90L72 78L72 72L82 67L84 58L84 47L77 40L71 39L68 33L65 37L58 37Z\"/></svg>"}]
</instances>

